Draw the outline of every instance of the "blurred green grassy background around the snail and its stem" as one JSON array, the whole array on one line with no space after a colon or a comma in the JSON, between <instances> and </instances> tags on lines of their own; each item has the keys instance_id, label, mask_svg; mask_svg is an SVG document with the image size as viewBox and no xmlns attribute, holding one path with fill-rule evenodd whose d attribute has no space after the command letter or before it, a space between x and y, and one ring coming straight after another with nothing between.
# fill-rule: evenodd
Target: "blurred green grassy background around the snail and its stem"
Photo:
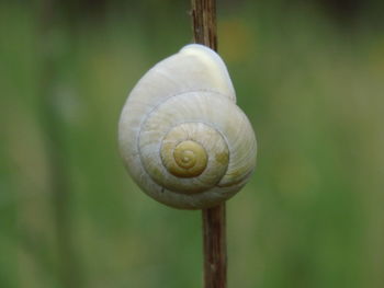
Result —
<instances>
[{"instance_id":1,"label":"blurred green grassy background around the snail and its stem","mask_svg":"<svg viewBox=\"0 0 384 288\"><path fill-rule=\"evenodd\" d=\"M218 1L258 138L227 204L229 287L384 286L384 7ZM194 288L199 211L126 174L128 91L191 43L189 1L0 2L0 287Z\"/></svg>"}]
</instances>

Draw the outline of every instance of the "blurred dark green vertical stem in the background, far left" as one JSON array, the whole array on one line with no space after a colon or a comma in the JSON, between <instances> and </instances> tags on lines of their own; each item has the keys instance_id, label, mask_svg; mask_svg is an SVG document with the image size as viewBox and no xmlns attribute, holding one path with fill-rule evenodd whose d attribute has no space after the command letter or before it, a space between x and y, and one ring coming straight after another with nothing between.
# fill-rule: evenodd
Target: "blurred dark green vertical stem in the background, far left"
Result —
<instances>
[{"instance_id":1,"label":"blurred dark green vertical stem in the background, far left","mask_svg":"<svg viewBox=\"0 0 384 288\"><path fill-rule=\"evenodd\" d=\"M57 81L57 59L53 50L55 19L58 16L54 0L41 1L41 117L45 133L45 150L50 172L53 218L58 251L58 278L60 286L80 287L80 273L71 243L70 193L68 168L64 139L64 125L55 105L55 84Z\"/></svg>"}]
</instances>

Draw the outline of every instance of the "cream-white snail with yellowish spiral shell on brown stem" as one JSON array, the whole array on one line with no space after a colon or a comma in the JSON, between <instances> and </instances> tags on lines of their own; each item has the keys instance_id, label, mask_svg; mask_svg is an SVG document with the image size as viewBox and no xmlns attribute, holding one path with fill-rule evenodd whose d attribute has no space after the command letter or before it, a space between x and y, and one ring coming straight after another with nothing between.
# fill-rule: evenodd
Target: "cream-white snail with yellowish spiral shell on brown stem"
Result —
<instances>
[{"instance_id":1,"label":"cream-white snail with yellowish spiral shell on brown stem","mask_svg":"<svg viewBox=\"0 0 384 288\"><path fill-rule=\"evenodd\" d=\"M227 68L199 44L184 46L138 81L121 114L118 146L137 185L180 209L227 200L256 164L255 133L236 105Z\"/></svg>"}]
</instances>

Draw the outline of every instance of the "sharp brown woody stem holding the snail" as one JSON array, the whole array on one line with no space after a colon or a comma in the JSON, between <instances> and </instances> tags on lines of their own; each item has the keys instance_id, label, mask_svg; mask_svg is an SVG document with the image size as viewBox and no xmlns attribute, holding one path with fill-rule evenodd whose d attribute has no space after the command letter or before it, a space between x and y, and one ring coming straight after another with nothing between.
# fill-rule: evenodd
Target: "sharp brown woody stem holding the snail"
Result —
<instances>
[{"instance_id":1,"label":"sharp brown woody stem holding the snail","mask_svg":"<svg viewBox=\"0 0 384 288\"><path fill-rule=\"evenodd\" d=\"M195 43L217 50L215 0L192 0ZM202 210L204 245L204 288L227 287L225 203Z\"/></svg>"}]
</instances>

